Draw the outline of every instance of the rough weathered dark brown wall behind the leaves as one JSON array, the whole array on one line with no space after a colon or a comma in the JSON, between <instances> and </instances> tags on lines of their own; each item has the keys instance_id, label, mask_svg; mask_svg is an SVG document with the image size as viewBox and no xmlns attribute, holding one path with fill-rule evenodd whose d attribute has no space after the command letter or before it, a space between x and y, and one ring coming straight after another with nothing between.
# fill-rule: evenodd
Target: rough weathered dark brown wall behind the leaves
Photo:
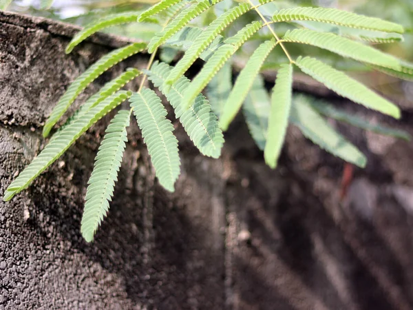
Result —
<instances>
[{"instance_id":1,"label":"rough weathered dark brown wall behind the leaves","mask_svg":"<svg viewBox=\"0 0 413 310\"><path fill-rule=\"evenodd\" d=\"M124 42L100 35L65 55L69 25L3 12L0 24L2 195L44 145L41 125L70 81ZM397 123L411 133L412 112ZM219 160L177 125L182 176L169 194L132 125L109 216L87 244L83 196L108 120L0 202L0 309L413 308L412 143L341 126L370 161L339 203L343 163L293 127L271 171L242 120Z\"/></svg>"}]
</instances>

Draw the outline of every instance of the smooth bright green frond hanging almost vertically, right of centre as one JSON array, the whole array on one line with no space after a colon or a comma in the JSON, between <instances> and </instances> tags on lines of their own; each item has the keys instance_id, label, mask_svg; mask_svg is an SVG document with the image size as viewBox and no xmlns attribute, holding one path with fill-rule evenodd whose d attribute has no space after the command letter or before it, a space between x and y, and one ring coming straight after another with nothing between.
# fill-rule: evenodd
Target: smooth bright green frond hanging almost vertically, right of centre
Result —
<instances>
[{"instance_id":1,"label":"smooth bright green frond hanging almost vertically, right of centre","mask_svg":"<svg viewBox=\"0 0 413 310\"><path fill-rule=\"evenodd\" d=\"M278 70L273 94L271 94L271 114L268 118L267 141L264 149L265 162L273 169L277 166L284 144L292 96L293 65L282 65Z\"/></svg>"}]
</instances>

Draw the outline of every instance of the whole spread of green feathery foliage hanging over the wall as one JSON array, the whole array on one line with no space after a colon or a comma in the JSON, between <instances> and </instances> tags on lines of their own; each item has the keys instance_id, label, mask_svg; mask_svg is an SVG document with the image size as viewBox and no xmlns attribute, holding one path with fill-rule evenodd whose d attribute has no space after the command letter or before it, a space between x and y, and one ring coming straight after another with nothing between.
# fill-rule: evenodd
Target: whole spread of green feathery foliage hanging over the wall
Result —
<instances>
[{"instance_id":1,"label":"whole spread of green feathery foliage hanging over the wall","mask_svg":"<svg viewBox=\"0 0 413 310\"><path fill-rule=\"evenodd\" d=\"M221 154L224 143L222 129L229 127L241 107L251 136L264 150L264 159L270 167L277 165L288 121L335 156L360 167L366 165L366 157L335 132L321 114L364 130L410 138L405 132L368 124L308 97L297 96L292 100L293 68L297 67L340 96L399 118L401 112L396 105L334 67L337 58L343 56L361 62L357 68L364 70L367 65L367 69L374 68L401 79L413 80L412 64L372 46L372 43L403 41L402 25L343 10L305 8L289 2L221 1L162 0L143 11L139 4L130 12L114 10L116 14L109 16L103 14L100 17L95 12L94 16L99 18L76 34L67 45L66 52L71 52L95 32L112 26L118 29L129 26L125 33L131 39L148 42L148 45L133 43L114 50L81 74L54 107L43 128L43 136L50 133L89 83L119 61L147 50L152 55L147 70L143 71L143 81L133 96L131 92L120 90L141 74L132 68L90 96L70 121L54 134L39 156L10 184L3 199L10 200L27 188L83 132L129 96L131 110L121 111L112 119L96 156L86 194L81 228L83 237L87 241L93 240L109 209L132 112L142 131L159 183L173 191L180 174L178 141L161 99L153 90L143 87L146 76L169 101L194 145L202 154L213 158ZM1 5L6 6L9 2L3 0ZM50 0L43 1L46 2L50 3ZM149 30L148 25L151 26ZM299 29L295 29L297 26ZM275 49L277 45L279 48ZM302 48L303 45L312 46ZM153 53L158 48L162 49L160 58L163 61L172 63L178 60L177 63L170 66L153 62L156 56ZM322 61L307 56L313 52L317 52L317 58ZM195 61L203 61L203 67L190 80L184 74ZM234 85L233 63L242 68ZM346 64L344 68L347 68ZM275 82L271 99L260 75L264 68L278 70L276 81L267 81ZM204 89L211 105L202 94Z\"/></svg>"}]
</instances>

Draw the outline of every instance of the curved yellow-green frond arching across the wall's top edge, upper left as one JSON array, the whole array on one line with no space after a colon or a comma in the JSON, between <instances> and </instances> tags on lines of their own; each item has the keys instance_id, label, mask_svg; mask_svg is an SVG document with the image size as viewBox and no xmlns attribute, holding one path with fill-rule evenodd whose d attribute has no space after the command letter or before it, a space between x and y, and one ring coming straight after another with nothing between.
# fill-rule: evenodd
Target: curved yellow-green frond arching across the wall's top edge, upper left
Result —
<instances>
[{"instance_id":1,"label":"curved yellow-green frond arching across the wall's top edge, upper left","mask_svg":"<svg viewBox=\"0 0 413 310\"><path fill-rule=\"evenodd\" d=\"M76 33L76 35L67 45L66 50L65 50L66 54L69 54L70 52L72 52L72 50L78 44L85 41L85 39L90 37L92 34L104 28L111 27L113 25L119 25L121 23L132 23L136 21L139 15L140 15L140 12L122 12L122 13L112 14L107 17L103 17L103 19L98 19L97 21L89 23L88 25L85 26L85 28L83 28L83 30Z\"/></svg>"}]
</instances>

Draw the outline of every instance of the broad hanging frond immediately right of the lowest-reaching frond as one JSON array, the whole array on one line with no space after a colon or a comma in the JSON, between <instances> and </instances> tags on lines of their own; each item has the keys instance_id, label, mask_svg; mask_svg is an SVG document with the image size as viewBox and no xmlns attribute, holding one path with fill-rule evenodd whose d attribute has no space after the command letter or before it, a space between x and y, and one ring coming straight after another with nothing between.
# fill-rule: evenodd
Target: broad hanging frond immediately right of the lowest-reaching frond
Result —
<instances>
[{"instance_id":1,"label":"broad hanging frond immediately right of the lowest-reaching frond","mask_svg":"<svg viewBox=\"0 0 413 310\"><path fill-rule=\"evenodd\" d=\"M159 183L170 192L180 174L178 141L167 110L153 90L142 88L129 100L147 145Z\"/></svg>"}]
</instances>

